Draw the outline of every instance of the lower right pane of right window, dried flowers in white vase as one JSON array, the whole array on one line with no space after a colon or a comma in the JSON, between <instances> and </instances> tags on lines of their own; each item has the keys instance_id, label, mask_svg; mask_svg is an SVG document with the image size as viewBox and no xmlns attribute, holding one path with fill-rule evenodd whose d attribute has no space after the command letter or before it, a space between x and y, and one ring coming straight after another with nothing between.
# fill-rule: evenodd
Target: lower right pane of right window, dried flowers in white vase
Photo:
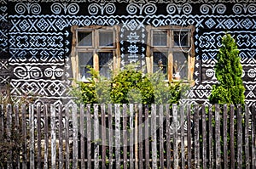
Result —
<instances>
[{"instance_id":1,"label":"lower right pane of right window, dried flowers in white vase","mask_svg":"<svg viewBox=\"0 0 256 169\"><path fill-rule=\"evenodd\" d=\"M183 52L173 53L173 78L188 78L188 54Z\"/></svg>"}]
</instances>

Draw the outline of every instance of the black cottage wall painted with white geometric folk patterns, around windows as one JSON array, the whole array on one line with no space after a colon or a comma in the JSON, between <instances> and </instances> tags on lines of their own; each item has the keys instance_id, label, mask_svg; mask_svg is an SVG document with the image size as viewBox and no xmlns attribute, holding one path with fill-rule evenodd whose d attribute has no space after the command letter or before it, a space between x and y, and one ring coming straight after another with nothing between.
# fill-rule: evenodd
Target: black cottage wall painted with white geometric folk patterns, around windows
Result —
<instances>
[{"instance_id":1,"label":"black cottage wall painted with white geometric folk patterns, around windows","mask_svg":"<svg viewBox=\"0 0 256 169\"><path fill-rule=\"evenodd\" d=\"M239 2L239 3L238 3ZM226 31L236 38L247 103L256 100L255 0L2 0L0 87L38 102L68 100L72 25L120 25L121 65L145 65L145 25L195 25L195 87L188 99L206 103ZM137 37L138 36L138 37Z\"/></svg>"}]
</instances>

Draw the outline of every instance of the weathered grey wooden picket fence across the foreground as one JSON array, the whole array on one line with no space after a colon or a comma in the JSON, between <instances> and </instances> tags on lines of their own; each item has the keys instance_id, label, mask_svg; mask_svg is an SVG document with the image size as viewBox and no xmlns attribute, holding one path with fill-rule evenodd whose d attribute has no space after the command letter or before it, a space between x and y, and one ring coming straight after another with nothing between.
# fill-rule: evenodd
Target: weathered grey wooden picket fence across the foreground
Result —
<instances>
[{"instance_id":1,"label":"weathered grey wooden picket fence across the foreground","mask_svg":"<svg viewBox=\"0 0 256 169\"><path fill-rule=\"evenodd\" d=\"M255 107L0 105L2 168L256 168Z\"/></svg>"}]
</instances>

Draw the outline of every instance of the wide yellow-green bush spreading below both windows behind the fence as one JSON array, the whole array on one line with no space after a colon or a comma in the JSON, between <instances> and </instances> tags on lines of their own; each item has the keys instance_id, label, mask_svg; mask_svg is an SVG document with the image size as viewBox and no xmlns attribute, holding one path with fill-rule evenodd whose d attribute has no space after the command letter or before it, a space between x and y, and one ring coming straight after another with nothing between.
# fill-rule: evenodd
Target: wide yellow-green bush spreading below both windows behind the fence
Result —
<instances>
[{"instance_id":1,"label":"wide yellow-green bush spreading below both windows behind the fence","mask_svg":"<svg viewBox=\"0 0 256 169\"><path fill-rule=\"evenodd\" d=\"M90 74L90 83L77 82L77 86L73 87L72 95L77 98L78 104L177 104L188 89L181 83L166 82L161 71L143 74L136 65L126 66L110 79L99 76L92 68Z\"/></svg>"}]
</instances>

